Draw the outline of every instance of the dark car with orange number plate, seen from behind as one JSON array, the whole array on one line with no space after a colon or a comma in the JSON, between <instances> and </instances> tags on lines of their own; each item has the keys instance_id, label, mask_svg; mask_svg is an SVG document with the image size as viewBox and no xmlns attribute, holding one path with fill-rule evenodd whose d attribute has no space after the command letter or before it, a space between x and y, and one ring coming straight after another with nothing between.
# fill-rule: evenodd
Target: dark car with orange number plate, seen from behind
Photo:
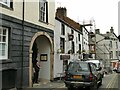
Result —
<instances>
[{"instance_id":1,"label":"dark car with orange number plate, seen from behind","mask_svg":"<svg viewBox=\"0 0 120 90\"><path fill-rule=\"evenodd\" d=\"M69 90L74 87L97 89L98 85L102 84L102 76L94 63L74 61L67 67L64 83Z\"/></svg>"}]
</instances>

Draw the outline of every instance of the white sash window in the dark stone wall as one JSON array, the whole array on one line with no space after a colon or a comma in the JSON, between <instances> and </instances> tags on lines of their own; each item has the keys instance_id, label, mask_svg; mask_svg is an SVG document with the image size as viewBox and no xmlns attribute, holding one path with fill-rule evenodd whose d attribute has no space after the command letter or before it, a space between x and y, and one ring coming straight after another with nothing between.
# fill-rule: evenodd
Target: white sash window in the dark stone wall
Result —
<instances>
[{"instance_id":1,"label":"white sash window in the dark stone wall","mask_svg":"<svg viewBox=\"0 0 120 90\"><path fill-rule=\"evenodd\" d=\"M8 58L8 28L0 27L0 59Z\"/></svg>"}]
</instances>

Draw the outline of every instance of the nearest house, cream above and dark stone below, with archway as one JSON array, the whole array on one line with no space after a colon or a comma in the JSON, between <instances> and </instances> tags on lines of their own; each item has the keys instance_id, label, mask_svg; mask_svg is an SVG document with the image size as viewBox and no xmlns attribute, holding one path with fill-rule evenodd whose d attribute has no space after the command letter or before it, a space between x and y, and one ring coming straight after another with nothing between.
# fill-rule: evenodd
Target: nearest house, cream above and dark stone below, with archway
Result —
<instances>
[{"instance_id":1,"label":"nearest house, cream above and dark stone below, with archway","mask_svg":"<svg viewBox=\"0 0 120 90\"><path fill-rule=\"evenodd\" d=\"M32 87L33 55L41 65L39 80L53 79L54 14L54 0L0 0L3 88Z\"/></svg>"}]
</instances>

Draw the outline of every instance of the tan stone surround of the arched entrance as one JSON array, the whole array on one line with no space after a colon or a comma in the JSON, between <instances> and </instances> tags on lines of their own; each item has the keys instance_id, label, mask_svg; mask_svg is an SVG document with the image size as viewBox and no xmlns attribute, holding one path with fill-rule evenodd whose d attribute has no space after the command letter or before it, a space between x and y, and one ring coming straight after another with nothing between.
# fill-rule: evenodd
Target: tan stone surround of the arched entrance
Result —
<instances>
[{"instance_id":1,"label":"tan stone surround of the arched entrance","mask_svg":"<svg viewBox=\"0 0 120 90\"><path fill-rule=\"evenodd\" d=\"M47 42L49 43L50 51L49 51L49 66L50 66L50 80L53 80L53 62L54 62L54 54L53 54L53 42L51 37L46 33L46 32L37 32L35 35L32 37L31 42L30 42L30 48L29 48L29 87L32 87L32 47L36 39L46 39ZM42 39L41 39L42 40ZM49 68L48 68L49 69Z\"/></svg>"}]
</instances>

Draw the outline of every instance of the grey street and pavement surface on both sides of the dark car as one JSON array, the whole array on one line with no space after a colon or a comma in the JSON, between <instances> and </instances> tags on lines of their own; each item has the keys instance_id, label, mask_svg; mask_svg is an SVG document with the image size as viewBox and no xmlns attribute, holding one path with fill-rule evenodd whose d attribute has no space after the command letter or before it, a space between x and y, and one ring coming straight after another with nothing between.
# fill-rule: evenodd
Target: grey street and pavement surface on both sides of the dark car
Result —
<instances>
[{"instance_id":1,"label":"grey street and pavement surface on both sides of the dark car","mask_svg":"<svg viewBox=\"0 0 120 90\"><path fill-rule=\"evenodd\" d=\"M48 89L48 90L67 90L63 81L55 81L44 85L36 85L34 89ZM119 90L120 89L120 74L113 72L107 74L103 78L102 85L98 90ZM79 89L76 89L79 90Z\"/></svg>"}]
</instances>

